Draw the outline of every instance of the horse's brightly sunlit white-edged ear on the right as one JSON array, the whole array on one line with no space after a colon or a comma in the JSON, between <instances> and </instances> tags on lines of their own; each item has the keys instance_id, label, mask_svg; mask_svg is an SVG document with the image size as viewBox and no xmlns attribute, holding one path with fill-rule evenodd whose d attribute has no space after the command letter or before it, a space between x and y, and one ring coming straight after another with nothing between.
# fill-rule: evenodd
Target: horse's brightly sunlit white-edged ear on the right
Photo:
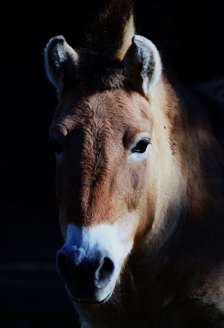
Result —
<instances>
[{"instance_id":1,"label":"horse's brightly sunlit white-edged ear on the right","mask_svg":"<svg viewBox=\"0 0 224 328\"><path fill-rule=\"evenodd\" d=\"M145 95L152 92L162 72L158 50L152 41L140 35L133 36L132 45L124 57L124 67L130 83L143 89Z\"/></svg>"}]
</instances>

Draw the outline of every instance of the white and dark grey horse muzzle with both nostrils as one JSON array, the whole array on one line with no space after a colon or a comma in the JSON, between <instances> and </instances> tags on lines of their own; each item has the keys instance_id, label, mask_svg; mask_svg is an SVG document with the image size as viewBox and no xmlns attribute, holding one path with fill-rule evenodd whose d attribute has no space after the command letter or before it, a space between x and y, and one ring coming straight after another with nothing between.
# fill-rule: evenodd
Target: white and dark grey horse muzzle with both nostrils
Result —
<instances>
[{"instance_id":1,"label":"white and dark grey horse muzzle with both nostrils","mask_svg":"<svg viewBox=\"0 0 224 328\"><path fill-rule=\"evenodd\" d=\"M92 229L75 226L71 234L70 226L65 244L57 253L57 268L75 302L99 303L111 297L122 261L116 255L118 245L109 239L102 234L96 238Z\"/></svg>"}]
</instances>

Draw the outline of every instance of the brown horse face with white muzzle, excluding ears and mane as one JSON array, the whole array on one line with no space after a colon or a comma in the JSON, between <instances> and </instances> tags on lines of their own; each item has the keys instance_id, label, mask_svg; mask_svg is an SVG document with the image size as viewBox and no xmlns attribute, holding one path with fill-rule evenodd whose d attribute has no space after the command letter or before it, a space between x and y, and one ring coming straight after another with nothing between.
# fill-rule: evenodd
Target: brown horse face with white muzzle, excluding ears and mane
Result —
<instances>
[{"instance_id":1,"label":"brown horse face with white muzzle, excluding ears and mane","mask_svg":"<svg viewBox=\"0 0 224 328\"><path fill-rule=\"evenodd\" d=\"M70 92L54 114L50 137L65 239L57 267L76 302L106 301L134 242L149 229L152 130L149 98L126 89L82 99Z\"/></svg>"}]
</instances>

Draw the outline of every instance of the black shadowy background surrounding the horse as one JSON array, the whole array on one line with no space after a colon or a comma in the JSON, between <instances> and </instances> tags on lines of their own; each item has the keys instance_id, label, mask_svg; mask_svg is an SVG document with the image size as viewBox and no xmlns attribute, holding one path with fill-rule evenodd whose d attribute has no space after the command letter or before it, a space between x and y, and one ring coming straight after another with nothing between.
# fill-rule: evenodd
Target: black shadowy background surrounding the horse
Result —
<instances>
[{"instance_id":1,"label":"black shadowy background surrounding the horse","mask_svg":"<svg viewBox=\"0 0 224 328\"><path fill-rule=\"evenodd\" d=\"M2 10L0 326L75 327L77 316L56 270L63 245L48 130L57 105L44 48L63 35L84 43L105 1L19 3ZM221 2L220 2L221 6ZM139 34L187 85L224 76L223 14L214 1L138 1Z\"/></svg>"}]
</instances>

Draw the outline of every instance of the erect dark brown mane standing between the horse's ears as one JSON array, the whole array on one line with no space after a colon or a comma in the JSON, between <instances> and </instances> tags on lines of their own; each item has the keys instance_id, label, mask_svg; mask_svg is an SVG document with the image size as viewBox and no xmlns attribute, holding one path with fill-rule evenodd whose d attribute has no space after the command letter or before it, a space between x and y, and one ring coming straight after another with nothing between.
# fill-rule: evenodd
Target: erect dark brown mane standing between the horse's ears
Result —
<instances>
[{"instance_id":1,"label":"erect dark brown mane standing between the horse's ears","mask_svg":"<svg viewBox=\"0 0 224 328\"><path fill-rule=\"evenodd\" d=\"M88 90L123 87L122 59L134 35L132 0L112 0L93 22L80 49L78 80Z\"/></svg>"}]
</instances>

